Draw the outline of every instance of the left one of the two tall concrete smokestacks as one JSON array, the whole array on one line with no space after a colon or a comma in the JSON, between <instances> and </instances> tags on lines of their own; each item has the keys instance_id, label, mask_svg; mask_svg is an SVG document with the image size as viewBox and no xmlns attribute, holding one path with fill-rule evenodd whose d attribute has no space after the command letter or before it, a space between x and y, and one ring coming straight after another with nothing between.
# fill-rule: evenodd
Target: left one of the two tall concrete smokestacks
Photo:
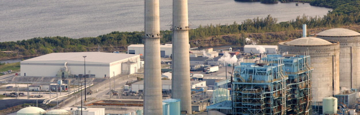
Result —
<instances>
[{"instance_id":1,"label":"left one of the two tall concrete smokestacks","mask_svg":"<svg viewBox=\"0 0 360 115\"><path fill-rule=\"evenodd\" d=\"M145 0L144 115L162 115L159 0Z\"/></svg>"}]
</instances>

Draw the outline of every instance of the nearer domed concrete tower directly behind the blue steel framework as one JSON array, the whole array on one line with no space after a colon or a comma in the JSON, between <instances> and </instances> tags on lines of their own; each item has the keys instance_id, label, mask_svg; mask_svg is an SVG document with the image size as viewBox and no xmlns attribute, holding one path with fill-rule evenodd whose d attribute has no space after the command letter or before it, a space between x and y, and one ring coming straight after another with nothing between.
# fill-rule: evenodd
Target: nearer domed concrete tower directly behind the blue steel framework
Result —
<instances>
[{"instance_id":1,"label":"nearer domed concrete tower directly behind the blue steel framework","mask_svg":"<svg viewBox=\"0 0 360 115\"><path fill-rule=\"evenodd\" d=\"M303 37L292 41L280 41L280 52L310 55L312 100L339 93L339 43L316 37Z\"/></svg>"}]
</instances>

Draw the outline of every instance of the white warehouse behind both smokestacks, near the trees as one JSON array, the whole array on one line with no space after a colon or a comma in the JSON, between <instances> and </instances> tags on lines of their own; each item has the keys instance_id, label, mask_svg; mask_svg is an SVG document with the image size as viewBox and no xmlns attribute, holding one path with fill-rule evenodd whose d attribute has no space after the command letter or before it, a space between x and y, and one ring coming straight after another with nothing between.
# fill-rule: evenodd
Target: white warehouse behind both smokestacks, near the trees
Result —
<instances>
[{"instance_id":1,"label":"white warehouse behind both smokestacks, near the trees","mask_svg":"<svg viewBox=\"0 0 360 115\"><path fill-rule=\"evenodd\" d=\"M190 49L190 44L189 44ZM144 56L144 45L143 44L133 44L127 46L128 54L138 54ZM172 44L160 45L160 55L161 57L170 57L172 54Z\"/></svg>"}]
</instances>

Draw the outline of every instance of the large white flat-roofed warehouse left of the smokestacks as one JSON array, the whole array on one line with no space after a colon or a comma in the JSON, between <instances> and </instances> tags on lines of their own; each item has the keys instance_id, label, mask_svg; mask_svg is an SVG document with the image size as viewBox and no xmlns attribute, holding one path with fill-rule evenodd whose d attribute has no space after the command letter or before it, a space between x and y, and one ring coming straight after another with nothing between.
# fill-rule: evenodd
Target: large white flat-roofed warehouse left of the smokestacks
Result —
<instances>
[{"instance_id":1,"label":"large white flat-roofed warehouse left of the smokestacks","mask_svg":"<svg viewBox=\"0 0 360 115\"><path fill-rule=\"evenodd\" d=\"M86 77L108 78L121 73L136 73L140 56L107 52L51 53L20 62L21 75L32 77L82 77L84 57ZM114 73L113 73L114 72Z\"/></svg>"}]
</instances>

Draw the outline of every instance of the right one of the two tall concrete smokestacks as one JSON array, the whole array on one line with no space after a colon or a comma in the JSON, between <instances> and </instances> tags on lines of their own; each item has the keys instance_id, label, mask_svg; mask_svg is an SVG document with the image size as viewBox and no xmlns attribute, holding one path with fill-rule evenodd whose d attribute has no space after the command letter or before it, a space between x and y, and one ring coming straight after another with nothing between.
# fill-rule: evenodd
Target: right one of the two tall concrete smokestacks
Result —
<instances>
[{"instance_id":1,"label":"right one of the two tall concrete smokestacks","mask_svg":"<svg viewBox=\"0 0 360 115\"><path fill-rule=\"evenodd\" d=\"M191 113L188 0L173 0L172 98L180 99L181 111Z\"/></svg>"}]
</instances>

